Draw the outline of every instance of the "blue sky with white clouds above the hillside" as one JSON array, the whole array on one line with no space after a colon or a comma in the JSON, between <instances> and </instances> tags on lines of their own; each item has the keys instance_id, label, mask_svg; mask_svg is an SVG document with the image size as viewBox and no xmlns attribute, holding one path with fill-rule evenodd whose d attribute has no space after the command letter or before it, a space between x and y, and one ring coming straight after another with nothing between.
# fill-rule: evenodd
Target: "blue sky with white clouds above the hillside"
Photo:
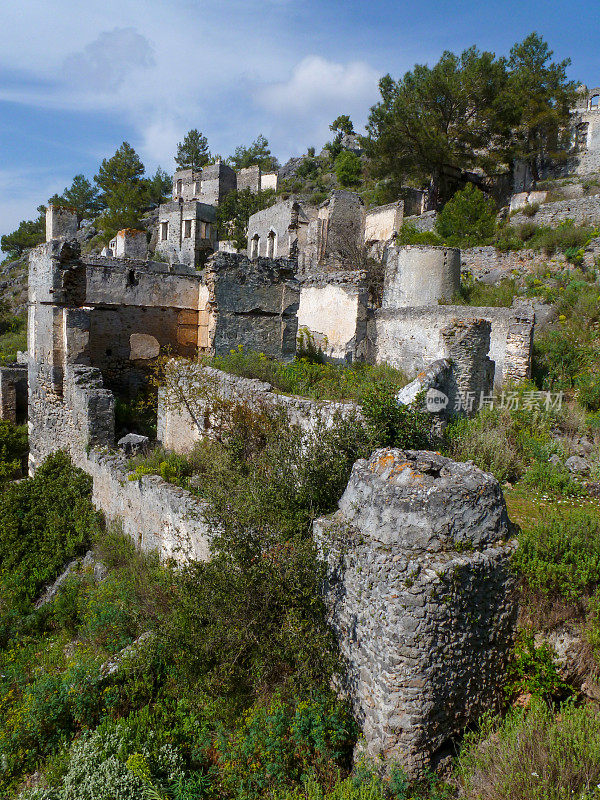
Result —
<instances>
[{"instance_id":1,"label":"blue sky with white clouds above the hillside","mask_svg":"<svg viewBox=\"0 0 600 800\"><path fill-rule=\"evenodd\" d=\"M260 133L282 163L319 150L444 50L535 30L596 86L599 23L599 0L0 0L0 235L123 141L149 173L190 128L224 158Z\"/></svg>"}]
</instances>

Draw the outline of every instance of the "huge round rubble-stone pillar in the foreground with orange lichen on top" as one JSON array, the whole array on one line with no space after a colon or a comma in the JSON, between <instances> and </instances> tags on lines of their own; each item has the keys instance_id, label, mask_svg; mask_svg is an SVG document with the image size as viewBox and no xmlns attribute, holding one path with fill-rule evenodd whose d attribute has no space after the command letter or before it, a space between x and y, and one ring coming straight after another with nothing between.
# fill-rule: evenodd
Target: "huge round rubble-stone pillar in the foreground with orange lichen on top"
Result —
<instances>
[{"instance_id":1,"label":"huge round rubble-stone pillar in the foreground with orange lichen on top","mask_svg":"<svg viewBox=\"0 0 600 800\"><path fill-rule=\"evenodd\" d=\"M517 605L500 485L437 453L378 450L314 535L364 749L422 776L502 696Z\"/></svg>"}]
</instances>

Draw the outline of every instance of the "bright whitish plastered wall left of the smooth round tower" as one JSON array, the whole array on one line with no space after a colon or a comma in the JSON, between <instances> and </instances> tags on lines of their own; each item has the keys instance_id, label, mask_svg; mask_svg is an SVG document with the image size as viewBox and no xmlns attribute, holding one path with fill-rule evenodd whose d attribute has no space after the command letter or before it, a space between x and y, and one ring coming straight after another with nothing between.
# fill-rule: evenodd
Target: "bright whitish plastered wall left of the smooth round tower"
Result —
<instances>
[{"instance_id":1,"label":"bright whitish plastered wall left of the smooth round tower","mask_svg":"<svg viewBox=\"0 0 600 800\"><path fill-rule=\"evenodd\" d=\"M331 359L365 355L369 293L361 271L312 274L301 280L298 331Z\"/></svg>"}]
</instances>

